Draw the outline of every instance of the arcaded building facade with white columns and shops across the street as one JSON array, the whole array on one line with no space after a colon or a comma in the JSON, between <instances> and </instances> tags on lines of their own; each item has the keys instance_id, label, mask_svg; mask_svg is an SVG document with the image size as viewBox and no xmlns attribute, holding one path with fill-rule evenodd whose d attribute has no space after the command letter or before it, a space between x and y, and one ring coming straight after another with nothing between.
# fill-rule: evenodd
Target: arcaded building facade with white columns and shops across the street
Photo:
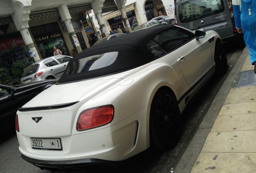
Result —
<instances>
[{"instance_id":1,"label":"arcaded building facade with white columns and shops across the street","mask_svg":"<svg viewBox=\"0 0 256 173\"><path fill-rule=\"evenodd\" d=\"M173 0L0 0L0 4L0 68L8 70L17 59L29 66L53 56L54 46L64 55L72 56L73 49L81 52L90 46L90 38L109 34L108 21L113 18L131 32L131 27L159 11L174 16Z\"/></svg>"}]
</instances>

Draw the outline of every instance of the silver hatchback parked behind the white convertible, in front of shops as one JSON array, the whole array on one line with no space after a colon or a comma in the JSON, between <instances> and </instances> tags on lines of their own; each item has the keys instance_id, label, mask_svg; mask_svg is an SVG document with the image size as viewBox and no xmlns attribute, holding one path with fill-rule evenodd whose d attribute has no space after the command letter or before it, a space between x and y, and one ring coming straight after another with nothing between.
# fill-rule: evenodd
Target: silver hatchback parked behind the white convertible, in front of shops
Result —
<instances>
[{"instance_id":1,"label":"silver hatchback parked behind the white convertible, in front of shops","mask_svg":"<svg viewBox=\"0 0 256 173\"><path fill-rule=\"evenodd\" d=\"M25 69L21 76L21 83L44 79L59 79L71 58L71 56L59 55L35 62Z\"/></svg>"}]
</instances>

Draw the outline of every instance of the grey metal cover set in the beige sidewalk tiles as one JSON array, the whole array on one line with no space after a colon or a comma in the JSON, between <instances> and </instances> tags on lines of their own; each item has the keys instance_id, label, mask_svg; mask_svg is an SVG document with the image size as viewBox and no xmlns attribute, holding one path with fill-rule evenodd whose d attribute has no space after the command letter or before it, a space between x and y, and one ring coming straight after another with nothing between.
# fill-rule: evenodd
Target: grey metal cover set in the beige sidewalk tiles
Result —
<instances>
[{"instance_id":1,"label":"grey metal cover set in the beige sidewalk tiles","mask_svg":"<svg viewBox=\"0 0 256 173\"><path fill-rule=\"evenodd\" d=\"M250 85L256 85L256 74L254 73L254 70L240 72L233 88Z\"/></svg>"}]
</instances>

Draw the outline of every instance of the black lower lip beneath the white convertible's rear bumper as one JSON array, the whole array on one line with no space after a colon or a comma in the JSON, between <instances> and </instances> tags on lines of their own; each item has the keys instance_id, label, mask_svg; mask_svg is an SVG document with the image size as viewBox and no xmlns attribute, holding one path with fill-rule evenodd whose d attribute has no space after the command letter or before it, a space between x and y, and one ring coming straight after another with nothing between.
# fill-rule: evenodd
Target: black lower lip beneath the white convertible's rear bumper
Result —
<instances>
[{"instance_id":1,"label":"black lower lip beneath the white convertible's rear bumper","mask_svg":"<svg viewBox=\"0 0 256 173\"><path fill-rule=\"evenodd\" d=\"M101 159L78 159L70 161L45 161L31 159L23 154L21 158L32 163L40 169L49 171L85 171L85 169L102 169L105 167L118 167L123 161L106 161Z\"/></svg>"}]
</instances>

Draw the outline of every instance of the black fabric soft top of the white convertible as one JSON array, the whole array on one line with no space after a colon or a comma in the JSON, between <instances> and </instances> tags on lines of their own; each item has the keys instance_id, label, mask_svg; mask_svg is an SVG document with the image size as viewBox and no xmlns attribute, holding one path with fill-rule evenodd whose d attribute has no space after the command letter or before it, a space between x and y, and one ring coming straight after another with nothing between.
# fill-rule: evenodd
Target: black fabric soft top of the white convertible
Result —
<instances>
[{"instance_id":1,"label":"black fabric soft top of the white convertible","mask_svg":"<svg viewBox=\"0 0 256 173\"><path fill-rule=\"evenodd\" d=\"M173 27L176 26L153 26L106 40L105 42L87 48L69 61L68 66L64 74L58 80L58 83L106 76L117 72L130 70L151 62L154 60L154 57L152 57L147 50L147 42L156 34ZM118 55L116 58L112 58L113 60L106 58L107 61L113 61L111 64L91 70L90 67L93 66L93 63L95 63L97 60L98 62L106 61L102 60L102 55L106 54L107 52L118 52ZM106 56L107 54L104 57ZM101 60L99 60L100 58Z\"/></svg>"}]
</instances>

